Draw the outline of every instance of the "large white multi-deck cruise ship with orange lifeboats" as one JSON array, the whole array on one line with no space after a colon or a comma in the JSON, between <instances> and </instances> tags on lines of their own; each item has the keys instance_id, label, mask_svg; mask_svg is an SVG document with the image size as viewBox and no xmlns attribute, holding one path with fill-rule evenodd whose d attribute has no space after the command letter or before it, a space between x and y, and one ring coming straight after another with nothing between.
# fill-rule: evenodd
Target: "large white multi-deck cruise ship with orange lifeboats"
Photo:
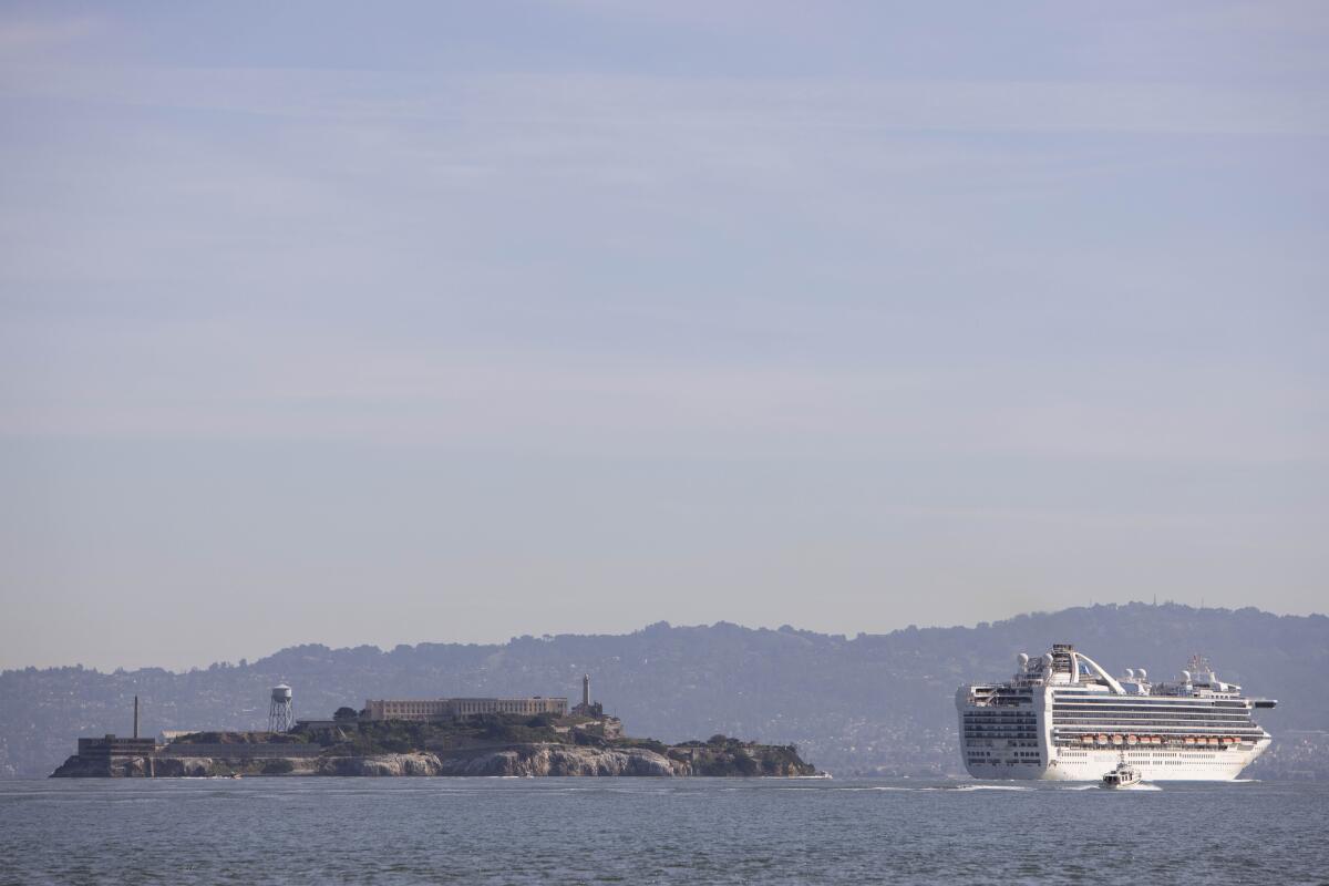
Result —
<instances>
[{"instance_id":1,"label":"large white multi-deck cruise ship with orange lifeboats","mask_svg":"<svg viewBox=\"0 0 1329 886\"><path fill-rule=\"evenodd\" d=\"M1199 656L1176 683L1112 677L1074 646L1017 656L1006 683L961 687L960 752L975 778L1098 781L1123 760L1146 781L1231 781L1269 747L1247 699Z\"/></svg>"}]
</instances>

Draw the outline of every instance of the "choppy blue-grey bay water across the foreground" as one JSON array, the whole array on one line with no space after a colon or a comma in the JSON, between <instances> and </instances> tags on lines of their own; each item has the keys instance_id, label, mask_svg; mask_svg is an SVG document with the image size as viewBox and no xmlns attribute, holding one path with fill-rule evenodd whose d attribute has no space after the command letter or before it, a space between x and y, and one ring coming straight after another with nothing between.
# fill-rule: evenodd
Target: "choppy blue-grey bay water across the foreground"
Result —
<instances>
[{"instance_id":1,"label":"choppy blue-grey bay water across the foreground","mask_svg":"<svg viewBox=\"0 0 1329 886\"><path fill-rule=\"evenodd\" d=\"M1329 785L0 782L3 883L1329 883Z\"/></svg>"}]
</instances>

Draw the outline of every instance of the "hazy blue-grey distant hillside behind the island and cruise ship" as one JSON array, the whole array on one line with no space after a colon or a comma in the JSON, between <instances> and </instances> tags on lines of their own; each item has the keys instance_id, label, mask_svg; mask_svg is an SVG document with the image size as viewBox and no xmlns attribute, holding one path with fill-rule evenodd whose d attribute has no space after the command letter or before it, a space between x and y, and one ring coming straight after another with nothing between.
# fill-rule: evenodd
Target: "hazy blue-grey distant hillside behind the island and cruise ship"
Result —
<instances>
[{"instance_id":1,"label":"hazy blue-grey distant hillside behind the island and cruise ship","mask_svg":"<svg viewBox=\"0 0 1329 886\"><path fill-rule=\"evenodd\" d=\"M1075 643L1111 671L1146 667L1155 676L1175 675L1203 652L1221 679L1280 701L1261 712L1276 745L1252 774L1329 777L1329 618L1143 603L853 639L662 622L619 636L525 636L502 646L300 646L187 673L5 671L0 774L45 776L76 737L128 733L134 693L144 733L155 735L260 728L268 687L282 680L295 688L298 716L326 717L368 697L575 697L583 672L631 735L795 743L804 758L844 776L957 774L956 688L1005 677L1017 651L1037 654L1054 642Z\"/></svg>"}]
</instances>

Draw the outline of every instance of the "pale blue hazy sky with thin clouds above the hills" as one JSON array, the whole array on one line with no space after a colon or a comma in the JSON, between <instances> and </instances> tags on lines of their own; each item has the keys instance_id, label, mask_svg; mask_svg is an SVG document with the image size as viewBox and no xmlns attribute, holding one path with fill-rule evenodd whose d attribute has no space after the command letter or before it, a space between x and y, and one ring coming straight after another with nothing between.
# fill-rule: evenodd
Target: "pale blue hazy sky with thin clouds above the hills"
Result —
<instances>
[{"instance_id":1,"label":"pale blue hazy sky with thin clouds above the hills","mask_svg":"<svg viewBox=\"0 0 1329 886\"><path fill-rule=\"evenodd\" d=\"M0 3L0 667L1324 612L1322 3Z\"/></svg>"}]
</instances>

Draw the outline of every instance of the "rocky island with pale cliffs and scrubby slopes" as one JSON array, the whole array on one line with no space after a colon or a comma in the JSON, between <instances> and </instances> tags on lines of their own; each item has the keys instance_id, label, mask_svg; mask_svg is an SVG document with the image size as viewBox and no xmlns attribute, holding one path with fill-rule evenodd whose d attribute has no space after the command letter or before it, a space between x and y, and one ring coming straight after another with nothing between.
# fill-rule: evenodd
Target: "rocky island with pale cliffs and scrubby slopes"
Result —
<instances>
[{"instance_id":1,"label":"rocky island with pale cliffs and scrubby slopes","mask_svg":"<svg viewBox=\"0 0 1329 886\"><path fill-rule=\"evenodd\" d=\"M815 776L792 745L723 735L667 745L617 720L486 713L439 721L361 720L354 711L288 732L80 739L54 778L226 776ZM339 712L340 715L342 712Z\"/></svg>"}]
</instances>

